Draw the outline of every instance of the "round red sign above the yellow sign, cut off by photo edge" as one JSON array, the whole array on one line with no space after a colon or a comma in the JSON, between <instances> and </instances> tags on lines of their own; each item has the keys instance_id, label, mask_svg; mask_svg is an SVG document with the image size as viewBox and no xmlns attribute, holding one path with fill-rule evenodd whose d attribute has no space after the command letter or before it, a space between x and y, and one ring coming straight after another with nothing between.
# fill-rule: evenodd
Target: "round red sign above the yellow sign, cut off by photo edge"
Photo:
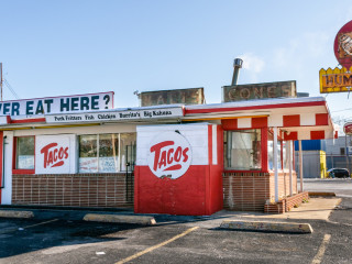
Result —
<instances>
[{"instance_id":1,"label":"round red sign above the yellow sign, cut off by photo edge","mask_svg":"<svg viewBox=\"0 0 352 264\"><path fill-rule=\"evenodd\" d=\"M338 32L333 51L339 64L350 69L352 66L352 21L344 24Z\"/></svg>"}]
</instances>

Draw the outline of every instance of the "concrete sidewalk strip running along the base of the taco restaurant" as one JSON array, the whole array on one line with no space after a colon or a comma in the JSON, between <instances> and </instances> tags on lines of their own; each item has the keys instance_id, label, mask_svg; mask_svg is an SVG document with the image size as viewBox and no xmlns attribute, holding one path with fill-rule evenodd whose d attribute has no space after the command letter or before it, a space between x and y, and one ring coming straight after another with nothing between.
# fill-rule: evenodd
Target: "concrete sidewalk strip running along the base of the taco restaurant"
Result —
<instances>
[{"instance_id":1,"label":"concrete sidewalk strip running along the base of the taco restaurant","mask_svg":"<svg viewBox=\"0 0 352 264\"><path fill-rule=\"evenodd\" d=\"M57 208L57 209L32 209L31 207L0 207L0 211L30 211L33 212L35 219L64 219L64 220L82 220L88 213L101 215L101 216L134 216L134 217L154 217L156 224L167 224L172 222L199 222L209 221L212 223L223 220L328 220L331 211L341 202L340 198L310 198L309 202L302 204L298 208L293 208L292 211L283 215L267 215L262 212L242 212L242 211L227 211L221 210L212 216L169 216L169 215L135 215L132 210L74 210L70 208ZM129 218L127 218L129 219ZM129 222L127 222L129 223Z\"/></svg>"}]
</instances>

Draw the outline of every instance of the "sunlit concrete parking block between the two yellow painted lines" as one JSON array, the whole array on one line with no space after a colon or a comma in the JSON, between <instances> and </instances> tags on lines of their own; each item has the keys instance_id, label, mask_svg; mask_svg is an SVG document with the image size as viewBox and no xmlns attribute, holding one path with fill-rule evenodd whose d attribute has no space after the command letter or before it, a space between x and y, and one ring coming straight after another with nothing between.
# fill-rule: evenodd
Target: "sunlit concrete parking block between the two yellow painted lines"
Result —
<instances>
[{"instance_id":1,"label":"sunlit concrete parking block between the two yellow painted lines","mask_svg":"<svg viewBox=\"0 0 352 264\"><path fill-rule=\"evenodd\" d=\"M220 226L221 229L234 229L246 231L268 231L268 232L287 232L287 233L312 233L309 223L296 222L267 222L267 221L241 221L226 220Z\"/></svg>"}]
</instances>

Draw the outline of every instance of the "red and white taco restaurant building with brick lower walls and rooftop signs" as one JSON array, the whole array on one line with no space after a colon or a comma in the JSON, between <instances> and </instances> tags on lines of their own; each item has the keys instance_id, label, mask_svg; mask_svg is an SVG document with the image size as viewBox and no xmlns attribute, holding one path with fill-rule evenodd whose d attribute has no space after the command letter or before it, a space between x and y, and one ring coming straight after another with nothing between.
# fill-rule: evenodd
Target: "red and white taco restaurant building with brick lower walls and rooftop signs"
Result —
<instances>
[{"instance_id":1,"label":"red and white taco restaurant building with brick lower walls and rooftop signs","mask_svg":"<svg viewBox=\"0 0 352 264\"><path fill-rule=\"evenodd\" d=\"M296 82L0 102L1 205L134 208L138 213L285 212L297 190L293 141L337 135L323 97Z\"/></svg>"}]
</instances>

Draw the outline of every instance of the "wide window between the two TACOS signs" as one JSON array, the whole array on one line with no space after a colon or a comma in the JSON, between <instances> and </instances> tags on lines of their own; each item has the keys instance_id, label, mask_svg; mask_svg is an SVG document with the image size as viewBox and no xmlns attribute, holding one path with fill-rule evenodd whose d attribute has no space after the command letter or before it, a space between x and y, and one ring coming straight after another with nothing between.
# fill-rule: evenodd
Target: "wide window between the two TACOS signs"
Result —
<instances>
[{"instance_id":1,"label":"wide window between the two TACOS signs","mask_svg":"<svg viewBox=\"0 0 352 264\"><path fill-rule=\"evenodd\" d=\"M135 133L98 134L79 136L79 172L80 173L117 173L125 170L125 163L132 160L135 150Z\"/></svg>"}]
</instances>

